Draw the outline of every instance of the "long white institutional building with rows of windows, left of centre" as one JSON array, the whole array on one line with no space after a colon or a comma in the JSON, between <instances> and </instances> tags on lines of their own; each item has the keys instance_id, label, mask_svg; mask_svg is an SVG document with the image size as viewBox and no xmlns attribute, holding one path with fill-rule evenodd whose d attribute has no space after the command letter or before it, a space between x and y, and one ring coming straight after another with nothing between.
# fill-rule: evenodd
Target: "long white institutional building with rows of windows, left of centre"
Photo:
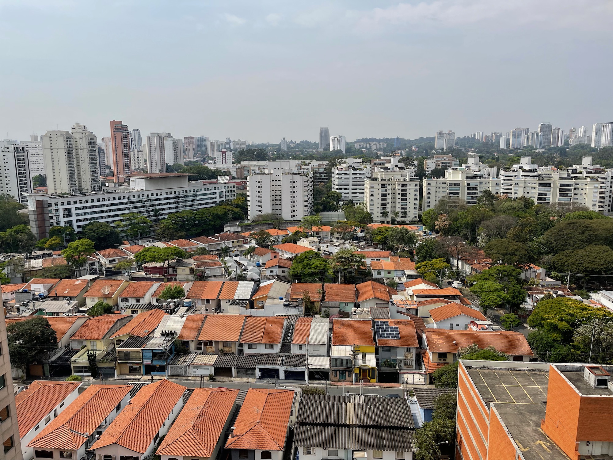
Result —
<instances>
[{"instance_id":1,"label":"long white institutional building with rows of windows, left of centre","mask_svg":"<svg viewBox=\"0 0 613 460\"><path fill-rule=\"evenodd\" d=\"M59 225L71 226L79 233L93 220L113 224L132 212L151 219L154 209L159 210L161 219L170 213L215 206L236 198L234 182L190 182L188 174L176 173L132 173L128 177L129 187L105 187L97 193L29 193L32 232L42 239L52 226Z\"/></svg>"}]
</instances>

